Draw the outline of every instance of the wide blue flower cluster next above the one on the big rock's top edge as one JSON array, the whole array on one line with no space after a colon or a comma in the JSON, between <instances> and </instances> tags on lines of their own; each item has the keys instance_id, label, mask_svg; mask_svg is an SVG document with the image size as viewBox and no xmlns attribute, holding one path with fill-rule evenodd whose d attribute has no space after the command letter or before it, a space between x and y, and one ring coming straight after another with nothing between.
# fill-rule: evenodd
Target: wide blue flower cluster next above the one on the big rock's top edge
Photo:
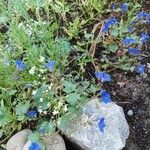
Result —
<instances>
[{"instance_id":1,"label":"wide blue flower cluster next above the one on the big rock's top edge","mask_svg":"<svg viewBox=\"0 0 150 150\"><path fill-rule=\"evenodd\" d=\"M106 72L102 72L102 71L95 72L95 76L97 79L101 79L102 82L111 81L110 75Z\"/></svg>"}]
</instances>

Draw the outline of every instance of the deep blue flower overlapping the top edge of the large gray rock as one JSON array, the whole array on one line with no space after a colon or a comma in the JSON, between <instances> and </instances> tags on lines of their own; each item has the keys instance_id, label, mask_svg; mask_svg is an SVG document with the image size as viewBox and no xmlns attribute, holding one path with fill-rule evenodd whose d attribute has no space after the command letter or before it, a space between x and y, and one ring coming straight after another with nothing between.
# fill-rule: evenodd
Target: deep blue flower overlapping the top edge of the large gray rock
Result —
<instances>
[{"instance_id":1,"label":"deep blue flower overlapping the top edge of the large gray rock","mask_svg":"<svg viewBox=\"0 0 150 150\"><path fill-rule=\"evenodd\" d=\"M110 95L110 93L107 92L106 90L101 90L101 91L100 91L100 95L101 95L102 101L103 101L105 104L111 102L111 95Z\"/></svg>"}]
</instances>

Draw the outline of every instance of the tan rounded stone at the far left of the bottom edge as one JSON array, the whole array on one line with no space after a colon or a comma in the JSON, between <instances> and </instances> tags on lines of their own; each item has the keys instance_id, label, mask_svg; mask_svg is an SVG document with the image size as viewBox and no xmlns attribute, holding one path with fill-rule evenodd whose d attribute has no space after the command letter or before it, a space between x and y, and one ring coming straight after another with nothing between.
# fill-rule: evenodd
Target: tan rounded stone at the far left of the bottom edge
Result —
<instances>
[{"instance_id":1,"label":"tan rounded stone at the far left of the bottom edge","mask_svg":"<svg viewBox=\"0 0 150 150\"><path fill-rule=\"evenodd\" d=\"M6 150L22 150L30 132L30 130L25 129L13 135L6 144Z\"/></svg>"}]
</instances>

